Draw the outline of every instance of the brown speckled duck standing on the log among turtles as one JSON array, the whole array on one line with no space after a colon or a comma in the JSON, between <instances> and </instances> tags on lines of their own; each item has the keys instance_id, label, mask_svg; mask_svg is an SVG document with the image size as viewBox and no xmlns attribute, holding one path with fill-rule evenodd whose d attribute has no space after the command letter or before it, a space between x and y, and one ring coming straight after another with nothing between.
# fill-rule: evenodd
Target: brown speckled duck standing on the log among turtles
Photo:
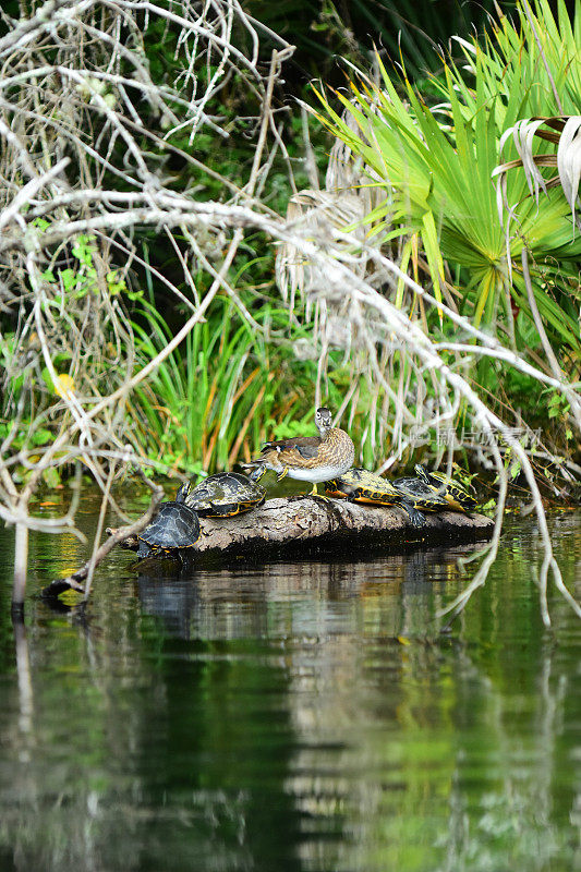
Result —
<instances>
[{"instance_id":1,"label":"brown speckled duck standing on the log among turtles","mask_svg":"<svg viewBox=\"0 0 581 872\"><path fill-rule=\"evenodd\" d=\"M353 465L355 448L349 434L332 426L329 409L317 409L315 424L318 436L295 436L266 443L261 457L243 464L253 470L251 479L257 482L266 470L274 470L279 482L286 475L301 482L313 482L308 496L327 499L328 497L317 494L317 484L347 472Z\"/></svg>"}]
</instances>

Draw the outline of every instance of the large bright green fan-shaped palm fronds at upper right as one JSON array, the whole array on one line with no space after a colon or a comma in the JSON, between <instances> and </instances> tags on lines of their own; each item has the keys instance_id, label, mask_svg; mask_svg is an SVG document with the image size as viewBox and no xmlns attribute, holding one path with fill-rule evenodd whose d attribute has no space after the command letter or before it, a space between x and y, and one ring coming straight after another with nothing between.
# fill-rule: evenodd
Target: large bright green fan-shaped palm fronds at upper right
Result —
<instances>
[{"instance_id":1,"label":"large bright green fan-shaped palm fronds at upper right","mask_svg":"<svg viewBox=\"0 0 581 872\"><path fill-rule=\"evenodd\" d=\"M550 14L544 2L538 3L538 10L540 15ZM565 14L562 9L560 14ZM577 29L579 26L577 23ZM350 83L349 98L337 95L356 121L359 133L353 133L323 94L317 94L324 107L318 117L365 159L372 184L386 190L383 205L367 216L373 232L386 242L399 241L404 267L413 246L421 244L438 300L446 275L456 275L463 314L475 326L482 324L512 336L513 314L508 303L512 296L513 304L524 313L516 339L536 344L520 265L525 245L532 254L533 292L546 330L555 341L579 352L571 289L577 287L581 238L573 237L562 192L550 190L537 206L529 196L524 173L508 178L507 199L518 204L511 225L510 261L506 230L498 217L492 175L500 161L504 131L519 118L556 111L552 89L533 87L529 78L529 68L534 64L537 71L543 62L533 25L522 11L521 28L517 32L503 19L494 34L501 37L501 48L493 47L493 36L484 46L467 44L468 72L447 62L444 75L434 80L445 100L438 108L431 108L406 77L401 96L377 59L382 87L361 76ZM544 36L552 47L550 57L558 61L560 78L565 69L570 71L569 90L581 75L571 33L569 27L561 36L553 22ZM503 62L500 51L506 53ZM577 92L577 104L580 101L581 89ZM401 304L401 299L398 302Z\"/></svg>"}]
</instances>

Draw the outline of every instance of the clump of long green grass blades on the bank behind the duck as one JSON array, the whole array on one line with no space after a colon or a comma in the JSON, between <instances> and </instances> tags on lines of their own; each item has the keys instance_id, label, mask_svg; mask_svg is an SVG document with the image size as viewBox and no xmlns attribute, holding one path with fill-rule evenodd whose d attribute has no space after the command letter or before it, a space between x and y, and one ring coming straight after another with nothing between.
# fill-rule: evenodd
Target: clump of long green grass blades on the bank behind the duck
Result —
<instances>
[{"instance_id":1,"label":"clump of long green grass blades on the bank behind the duck","mask_svg":"<svg viewBox=\"0 0 581 872\"><path fill-rule=\"evenodd\" d=\"M171 339L154 306L135 324L137 355L145 365ZM287 326L288 313L264 305L258 317L269 330ZM312 417L316 366L293 359L288 343L269 343L218 298L210 317L140 385L131 405L136 436L149 457L193 473L228 469L239 456L250 459L273 434L305 426ZM278 433L277 433L278 435Z\"/></svg>"}]
</instances>

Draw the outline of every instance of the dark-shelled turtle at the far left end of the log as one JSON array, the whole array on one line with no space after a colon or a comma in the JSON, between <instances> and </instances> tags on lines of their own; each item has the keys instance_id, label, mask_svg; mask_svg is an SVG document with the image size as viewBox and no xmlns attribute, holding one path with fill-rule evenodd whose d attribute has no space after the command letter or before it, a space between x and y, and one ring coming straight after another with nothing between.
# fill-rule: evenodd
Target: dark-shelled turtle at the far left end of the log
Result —
<instances>
[{"instance_id":1,"label":"dark-shelled turtle at the far left end of the log","mask_svg":"<svg viewBox=\"0 0 581 872\"><path fill-rule=\"evenodd\" d=\"M199 537L196 512L183 502L160 502L152 523L137 534L137 557L179 557Z\"/></svg>"}]
</instances>

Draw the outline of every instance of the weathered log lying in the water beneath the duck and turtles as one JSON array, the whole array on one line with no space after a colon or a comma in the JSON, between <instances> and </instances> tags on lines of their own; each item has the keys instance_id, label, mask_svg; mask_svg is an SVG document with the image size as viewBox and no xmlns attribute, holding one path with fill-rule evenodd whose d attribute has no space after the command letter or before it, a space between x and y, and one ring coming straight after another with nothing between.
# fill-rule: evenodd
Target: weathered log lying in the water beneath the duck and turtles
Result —
<instances>
[{"instance_id":1,"label":"weathered log lying in the water beneath the duck and turtles","mask_svg":"<svg viewBox=\"0 0 581 872\"><path fill-rule=\"evenodd\" d=\"M346 500L329 502L304 497L269 499L264 506L234 518L201 518L196 549L216 557L228 553L264 550L307 552L328 547L426 543L431 545L489 538L494 523L482 514L441 512L426 514L426 525L415 529L401 509L363 506Z\"/></svg>"}]
</instances>

